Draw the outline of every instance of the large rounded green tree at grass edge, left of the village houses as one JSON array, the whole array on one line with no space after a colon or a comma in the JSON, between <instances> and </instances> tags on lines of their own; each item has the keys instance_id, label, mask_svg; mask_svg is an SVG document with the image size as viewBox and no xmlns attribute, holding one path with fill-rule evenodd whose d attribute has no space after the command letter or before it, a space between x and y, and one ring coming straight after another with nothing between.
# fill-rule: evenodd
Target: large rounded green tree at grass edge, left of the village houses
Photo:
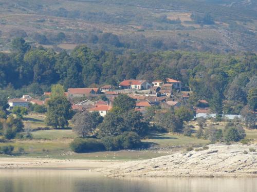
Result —
<instances>
[{"instance_id":1,"label":"large rounded green tree at grass edge, left of the village houses","mask_svg":"<svg viewBox=\"0 0 257 192\"><path fill-rule=\"evenodd\" d=\"M65 127L72 118L70 102L64 97L54 97L47 102L46 124L54 128Z\"/></svg>"}]
</instances>

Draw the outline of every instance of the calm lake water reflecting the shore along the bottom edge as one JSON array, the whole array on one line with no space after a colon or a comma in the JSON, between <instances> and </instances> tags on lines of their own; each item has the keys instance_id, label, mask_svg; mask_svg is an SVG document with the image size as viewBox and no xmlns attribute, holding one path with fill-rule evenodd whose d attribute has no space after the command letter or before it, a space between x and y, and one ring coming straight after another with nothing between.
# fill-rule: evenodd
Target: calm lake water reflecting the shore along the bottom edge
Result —
<instances>
[{"instance_id":1,"label":"calm lake water reflecting the shore along the bottom edge","mask_svg":"<svg viewBox=\"0 0 257 192\"><path fill-rule=\"evenodd\" d=\"M0 191L253 192L257 178L107 178L86 170L0 170Z\"/></svg>"}]
</instances>

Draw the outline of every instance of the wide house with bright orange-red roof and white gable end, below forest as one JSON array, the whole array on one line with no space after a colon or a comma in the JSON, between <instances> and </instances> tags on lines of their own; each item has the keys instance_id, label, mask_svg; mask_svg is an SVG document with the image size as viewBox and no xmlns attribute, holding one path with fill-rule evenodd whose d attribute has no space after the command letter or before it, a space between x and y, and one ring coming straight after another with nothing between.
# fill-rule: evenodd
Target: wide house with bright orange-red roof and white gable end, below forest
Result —
<instances>
[{"instance_id":1,"label":"wide house with bright orange-red roof and white gable end, below forest","mask_svg":"<svg viewBox=\"0 0 257 192\"><path fill-rule=\"evenodd\" d=\"M145 80L124 80L119 87L120 89L146 90L151 88L151 84Z\"/></svg>"}]
</instances>

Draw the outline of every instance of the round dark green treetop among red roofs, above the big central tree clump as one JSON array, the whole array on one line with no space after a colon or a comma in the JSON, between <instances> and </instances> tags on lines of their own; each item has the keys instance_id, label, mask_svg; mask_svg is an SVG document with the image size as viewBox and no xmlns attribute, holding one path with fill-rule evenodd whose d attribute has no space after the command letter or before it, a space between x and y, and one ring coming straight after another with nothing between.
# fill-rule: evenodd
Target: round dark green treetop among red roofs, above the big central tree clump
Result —
<instances>
[{"instance_id":1,"label":"round dark green treetop among red roofs, above the big central tree clump","mask_svg":"<svg viewBox=\"0 0 257 192\"><path fill-rule=\"evenodd\" d=\"M121 110L126 112L135 108L136 101L135 99L122 94L114 99L113 106L114 108L120 108Z\"/></svg>"}]
</instances>

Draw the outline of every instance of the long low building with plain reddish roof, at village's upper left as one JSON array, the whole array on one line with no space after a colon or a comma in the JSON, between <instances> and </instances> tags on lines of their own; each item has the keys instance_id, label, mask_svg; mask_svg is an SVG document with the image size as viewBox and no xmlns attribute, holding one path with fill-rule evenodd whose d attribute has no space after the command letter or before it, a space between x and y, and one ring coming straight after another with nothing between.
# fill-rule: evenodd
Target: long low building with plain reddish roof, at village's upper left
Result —
<instances>
[{"instance_id":1,"label":"long low building with plain reddish roof, at village's upper left","mask_svg":"<svg viewBox=\"0 0 257 192\"><path fill-rule=\"evenodd\" d=\"M68 89L68 98L74 97L85 97L89 94L100 94L101 91L98 88L69 88Z\"/></svg>"}]
</instances>

